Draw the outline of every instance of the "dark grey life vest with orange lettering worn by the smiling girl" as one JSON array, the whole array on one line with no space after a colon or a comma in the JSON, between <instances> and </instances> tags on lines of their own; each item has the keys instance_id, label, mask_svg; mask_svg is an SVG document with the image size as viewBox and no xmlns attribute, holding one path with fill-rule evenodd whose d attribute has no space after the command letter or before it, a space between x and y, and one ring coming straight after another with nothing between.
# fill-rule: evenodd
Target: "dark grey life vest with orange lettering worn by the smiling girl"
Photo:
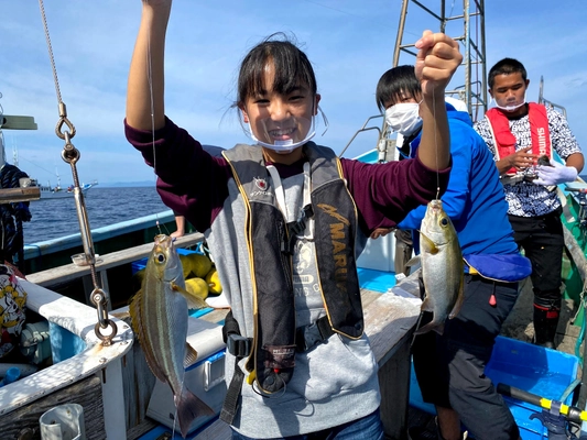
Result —
<instances>
[{"instance_id":1,"label":"dark grey life vest with orange lettering worn by the smiling girl","mask_svg":"<svg viewBox=\"0 0 587 440\"><path fill-rule=\"evenodd\" d=\"M331 332L359 339L365 324L355 258L358 231L355 201L335 153L313 142L303 148L312 176L311 206L304 211L314 219L316 266L327 324ZM232 168L247 208L244 234L254 314L247 370L263 393L272 394L292 377L295 351L300 348L290 240L300 221L287 224L280 211L259 146L237 145L222 155Z\"/></svg>"}]
</instances>

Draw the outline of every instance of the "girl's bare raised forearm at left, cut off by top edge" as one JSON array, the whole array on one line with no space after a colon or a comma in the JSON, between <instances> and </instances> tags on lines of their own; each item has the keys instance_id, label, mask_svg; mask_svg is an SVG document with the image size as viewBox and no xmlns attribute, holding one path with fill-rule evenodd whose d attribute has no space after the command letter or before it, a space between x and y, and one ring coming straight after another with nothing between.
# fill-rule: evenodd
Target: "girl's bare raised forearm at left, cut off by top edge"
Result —
<instances>
[{"instance_id":1,"label":"girl's bare raised forearm at left, cut off by top edge","mask_svg":"<svg viewBox=\"0 0 587 440\"><path fill-rule=\"evenodd\" d=\"M127 89L127 123L138 130L165 124L165 32L172 0L143 0Z\"/></svg>"}]
</instances>

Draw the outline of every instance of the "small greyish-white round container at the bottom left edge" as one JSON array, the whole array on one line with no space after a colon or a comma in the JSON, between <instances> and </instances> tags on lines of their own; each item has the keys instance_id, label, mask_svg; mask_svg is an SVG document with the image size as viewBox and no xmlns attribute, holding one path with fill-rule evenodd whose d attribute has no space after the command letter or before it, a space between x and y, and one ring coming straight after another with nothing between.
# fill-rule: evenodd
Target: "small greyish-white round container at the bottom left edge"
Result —
<instances>
[{"instance_id":1,"label":"small greyish-white round container at the bottom left edge","mask_svg":"<svg viewBox=\"0 0 587 440\"><path fill-rule=\"evenodd\" d=\"M65 404L51 408L39 419L42 440L86 440L84 407Z\"/></svg>"}]
</instances>

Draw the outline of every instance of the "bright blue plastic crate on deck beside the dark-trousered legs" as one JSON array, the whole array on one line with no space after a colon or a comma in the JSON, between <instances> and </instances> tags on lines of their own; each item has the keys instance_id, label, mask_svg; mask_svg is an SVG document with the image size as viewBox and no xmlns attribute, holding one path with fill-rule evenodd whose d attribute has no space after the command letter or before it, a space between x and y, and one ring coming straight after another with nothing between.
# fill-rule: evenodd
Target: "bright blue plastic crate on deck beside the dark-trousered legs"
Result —
<instances>
[{"instance_id":1,"label":"bright blue plastic crate on deck beside the dark-trousered legs","mask_svg":"<svg viewBox=\"0 0 587 440\"><path fill-rule=\"evenodd\" d=\"M502 383L550 400L570 405L579 360L577 356L533 345L511 338L498 337L486 374L493 384ZM522 440L546 440L548 433L537 419L530 416L542 408L510 397L503 397L520 427ZM410 405L435 414L434 406L424 403L412 365L410 378Z\"/></svg>"}]
</instances>

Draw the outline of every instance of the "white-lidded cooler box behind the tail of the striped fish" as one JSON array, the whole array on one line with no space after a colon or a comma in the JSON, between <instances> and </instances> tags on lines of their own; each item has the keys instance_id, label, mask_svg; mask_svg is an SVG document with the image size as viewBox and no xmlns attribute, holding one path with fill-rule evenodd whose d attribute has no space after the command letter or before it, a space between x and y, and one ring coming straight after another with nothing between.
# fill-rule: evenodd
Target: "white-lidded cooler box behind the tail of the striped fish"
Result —
<instances>
[{"instance_id":1,"label":"white-lidded cooler box behind the tail of the striped fish","mask_svg":"<svg viewBox=\"0 0 587 440\"><path fill-rule=\"evenodd\" d=\"M218 417L226 395L222 326L191 317L187 342L197 351L198 360L186 370L184 385L214 409ZM146 416L173 429L174 415L175 405L170 386L156 381ZM189 432L214 418L215 416L198 417L189 427ZM178 430L180 427L176 426L175 429Z\"/></svg>"}]
</instances>

